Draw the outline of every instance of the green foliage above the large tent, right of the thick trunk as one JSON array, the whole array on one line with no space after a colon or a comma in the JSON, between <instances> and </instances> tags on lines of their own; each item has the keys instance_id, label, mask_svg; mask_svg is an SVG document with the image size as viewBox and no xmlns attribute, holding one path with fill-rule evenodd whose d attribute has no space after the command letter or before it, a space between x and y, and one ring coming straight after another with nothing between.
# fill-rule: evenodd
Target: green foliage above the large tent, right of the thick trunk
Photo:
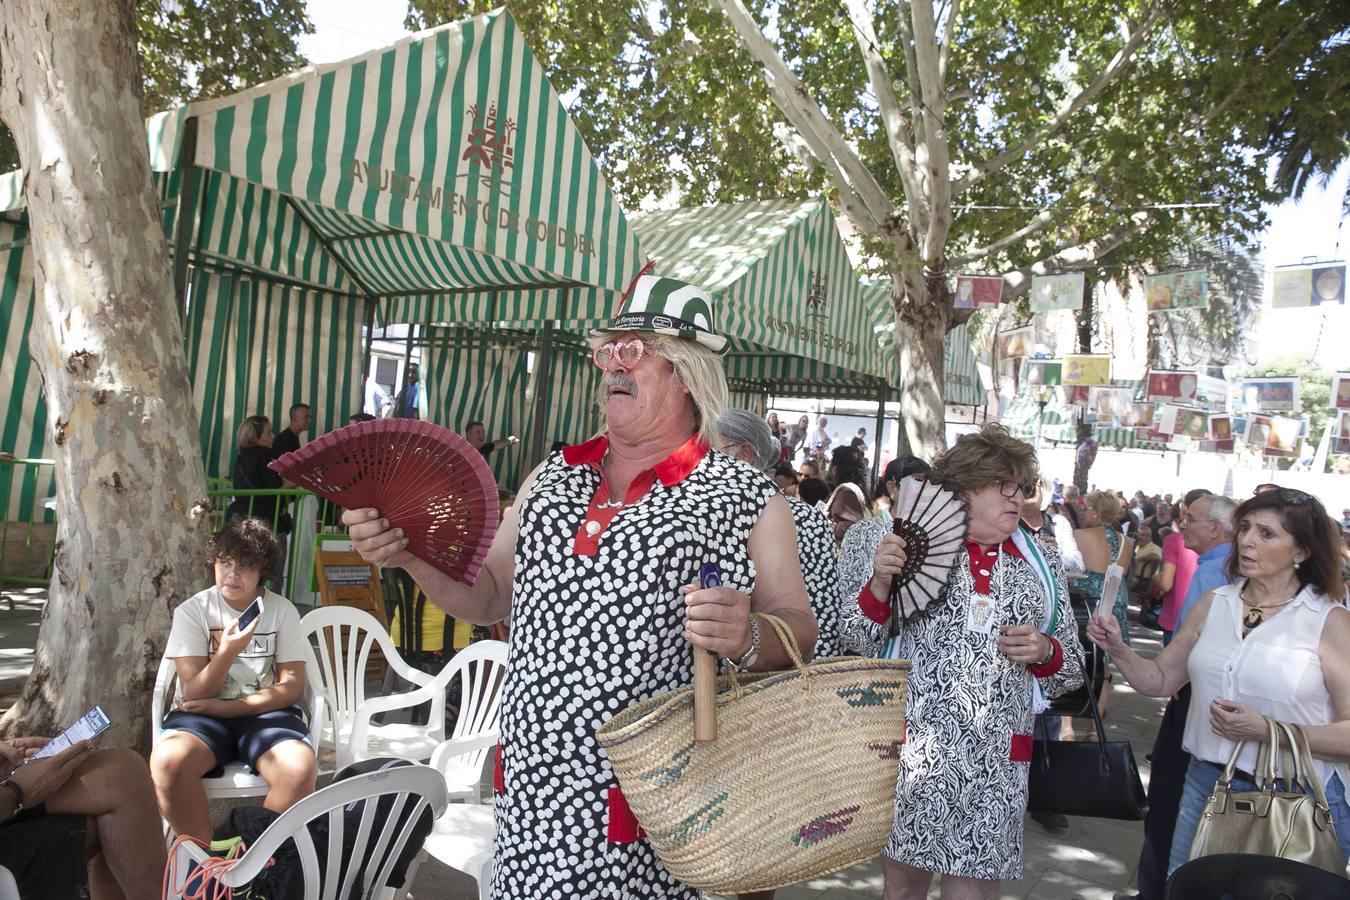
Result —
<instances>
[{"instance_id":1,"label":"green foliage above the large tent, right of the thick trunk","mask_svg":"<svg viewBox=\"0 0 1350 900\"><path fill-rule=\"evenodd\" d=\"M305 0L139 0L142 109L223 97L300 69L296 39L313 30ZM0 125L0 173L18 167L14 136Z\"/></svg>"}]
</instances>

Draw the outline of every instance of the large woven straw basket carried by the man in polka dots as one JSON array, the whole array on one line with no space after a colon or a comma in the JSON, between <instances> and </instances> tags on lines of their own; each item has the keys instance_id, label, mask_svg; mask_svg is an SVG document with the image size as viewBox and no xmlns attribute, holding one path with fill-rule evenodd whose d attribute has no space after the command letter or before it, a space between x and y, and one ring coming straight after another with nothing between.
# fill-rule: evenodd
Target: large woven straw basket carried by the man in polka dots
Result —
<instances>
[{"instance_id":1,"label":"large woven straw basket carried by the man in polka dots","mask_svg":"<svg viewBox=\"0 0 1350 900\"><path fill-rule=\"evenodd\" d=\"M759 614L757 614L759 615ZM875 858L895 818L907 660L729 675L717 739L694 743L694 688L630 706L597 731L656 855L687 885L768 891Z\"/></svg>"}]
</instances>

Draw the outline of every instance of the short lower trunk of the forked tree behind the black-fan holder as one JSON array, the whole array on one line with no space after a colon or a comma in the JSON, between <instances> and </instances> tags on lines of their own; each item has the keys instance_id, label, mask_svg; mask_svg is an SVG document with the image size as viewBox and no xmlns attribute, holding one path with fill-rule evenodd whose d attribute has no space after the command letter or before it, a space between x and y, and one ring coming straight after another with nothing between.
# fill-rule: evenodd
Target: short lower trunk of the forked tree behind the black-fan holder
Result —
<instances>
[{"instance_id":1,"label":"short lower trunk of the forked tree behind the black-fan holder","mask_svg":"<svg viewBox=\"0 0 1350 900\"><path fill-rule=\"evenodd\" d=\"M925 297L913 297L894 277L895 349L900 364L900 426L909 452L933 459L946 449L946 324L950 304L941 279L925 283ZM936 293L937 291L937 293Z\"/></svg>"}]
</instances>

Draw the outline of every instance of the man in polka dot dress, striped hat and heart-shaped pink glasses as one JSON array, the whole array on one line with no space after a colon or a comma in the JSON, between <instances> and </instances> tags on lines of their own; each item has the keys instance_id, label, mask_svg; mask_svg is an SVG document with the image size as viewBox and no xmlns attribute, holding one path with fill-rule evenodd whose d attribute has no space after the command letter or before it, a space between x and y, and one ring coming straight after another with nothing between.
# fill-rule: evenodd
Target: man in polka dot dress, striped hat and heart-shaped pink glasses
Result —
<instances>
[{"instance_id":1,"label":"man in polka dot dress, striped hat and heart-shaped pink glasses","mask_svg":"<svg viewBox=\"0 0 1350 900\"><path fill-rule=\"evenodd\" d=\"M474 586L406 552L378 510L343 521L360 555L405 568L456 618L510 615L493 896L697 897L662 866L618 789L595 729L693 680L695 648L755 671L790 665L772 613L811 650L792 515L772 480L722 453L726 376L699 289L640 277L593 333L606 429L541 463ZM722 587L699 590L699 568ZM691 646L693 645L693 646Z\"/></svg>"}]
</instances>

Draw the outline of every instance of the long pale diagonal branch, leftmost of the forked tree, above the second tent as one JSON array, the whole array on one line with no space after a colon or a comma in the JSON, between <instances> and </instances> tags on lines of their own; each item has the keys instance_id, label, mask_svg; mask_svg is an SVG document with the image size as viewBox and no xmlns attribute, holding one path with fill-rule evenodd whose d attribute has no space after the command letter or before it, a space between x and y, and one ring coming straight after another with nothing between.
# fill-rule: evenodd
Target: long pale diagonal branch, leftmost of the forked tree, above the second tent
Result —
<instances>
[{"instance_id":1,"label":"long pale diagonal branch, leftmost of the forked tree, above the second tent","mask_svg":"<svg viewBox=\"0 0 1350 900\"><path fill-rule=\"evenodd\" d=\"M713 0L713 3L732 20L741 43L751 55L764 67L764 77L771 86L771 94L778 108L787 116L787 120L796 128L811 152L824 163L828 158L834 161L840 174L848 181L852 193L859 198L861 210L871 221L859 221L863 228L880 231L883 224L895 216L895 206L891 204L882 185L868 171L863 161L844 135L830 123L815 99L811 97L801 78L792 74L787 62L778 50L768 42L759 24L751 16L741 0ZM772 88L778 88L774 90ZM821 155L824 150L824 157ZM829 166L826 166L829 169ZM856 220L857 221L857 220Z\"/></svg>"}]
</instances>

